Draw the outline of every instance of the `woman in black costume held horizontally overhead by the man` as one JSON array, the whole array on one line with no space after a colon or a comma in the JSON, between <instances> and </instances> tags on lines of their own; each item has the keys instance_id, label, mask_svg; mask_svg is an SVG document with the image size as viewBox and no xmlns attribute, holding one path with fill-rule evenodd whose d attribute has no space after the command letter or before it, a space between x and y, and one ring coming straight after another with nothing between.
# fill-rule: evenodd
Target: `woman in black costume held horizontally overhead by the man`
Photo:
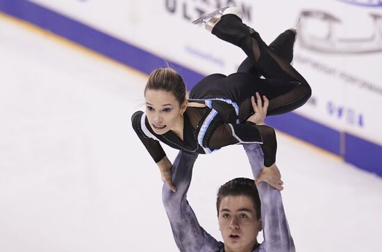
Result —
<instances>
[{"instance_id":1,"label":"woman in black costume held horizontally overhead by the man","mask_svg":"<svg viewBox=\"0 0 382 252\"><path fill-rule=\"evenodd\" d=\"M278 170L274 130L256 125L256 121L262 113L279 115L299 108L311 94L306 80L288 63L292 60L293 31L285 31L272 43L273 47L268 47L254 29L242 23L239 8L228 8L223 14L211 18L206 28L247 54L238 72L207 76L186 99L181 76L169 68L156 69L144 90L146 111L135 112L131 118L135 132L174 192L172 163L159 141L187 153L259 143L265 167ZM281 49L285 44L289 44L288 50Z\"/></svg>"}]
</instances>

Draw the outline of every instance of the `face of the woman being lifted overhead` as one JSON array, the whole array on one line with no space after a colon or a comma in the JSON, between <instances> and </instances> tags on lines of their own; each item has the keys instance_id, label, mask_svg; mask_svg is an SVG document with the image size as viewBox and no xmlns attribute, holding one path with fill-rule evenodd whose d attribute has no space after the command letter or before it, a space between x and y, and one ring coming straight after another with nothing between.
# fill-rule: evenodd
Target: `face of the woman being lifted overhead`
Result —
<instances>
[{"instance_id":1,"label":"face of the woman being lifted overhead","mask_svg":"<svg viewBox=\"0 0 382 252\"><path fill-rule=\"evenodd\" d=\"M146 90L146 115L153 132L162 135L174 128L184 112L185 106L179 106L172 92L164 90Z\"/></svg>"}]
</instances>

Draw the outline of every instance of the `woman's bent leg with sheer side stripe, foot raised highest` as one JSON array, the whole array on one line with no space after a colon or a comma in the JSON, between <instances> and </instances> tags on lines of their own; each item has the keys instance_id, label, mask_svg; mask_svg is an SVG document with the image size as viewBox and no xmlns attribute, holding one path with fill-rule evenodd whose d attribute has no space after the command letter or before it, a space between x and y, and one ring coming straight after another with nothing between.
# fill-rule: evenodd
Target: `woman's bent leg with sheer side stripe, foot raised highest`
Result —
<instances>
[{"instance_id":1,"label":"woman's bent leg with sheer side stripe, foot raised highest","mask_svg":"<svg viewBox=\"0 0 382 252\"><path fill-rule=\"evenodd\" d=\"M256 69L265 78L288 85L289 92L276 96L269 101L268 115L278 115L304 105L311 94L305 78L301 76L281 56L269 49L260 35L242 23L242 19L234 14L217 17L206 26L212 27L212 33L220 39L240 47L253 60ZM209 28L208 28L209 29ZM292 87L292 88L289 88Z\"/></svg>"}]
</instances>

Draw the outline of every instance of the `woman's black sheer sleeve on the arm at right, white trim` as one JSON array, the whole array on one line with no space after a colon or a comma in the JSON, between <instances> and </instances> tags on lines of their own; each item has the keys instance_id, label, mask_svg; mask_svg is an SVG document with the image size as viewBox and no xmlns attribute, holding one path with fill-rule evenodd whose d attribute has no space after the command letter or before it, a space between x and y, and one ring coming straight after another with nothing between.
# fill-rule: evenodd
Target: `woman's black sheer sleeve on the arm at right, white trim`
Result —
<instances>
[{"instance_id":1,"label":"woman's black sheer sleeve on the arm at right, white trim","mask_svg":"<svg viewBox=\"0 0 382 252\"><path fill-rule=\"evenodd\" d=\"M259 143L264 153L264 165L276 162L277 141L274 129L265 125L223 124L217 126L210 137L209 147L219 149L230 144Z\"/></svg>"}]
</instances>

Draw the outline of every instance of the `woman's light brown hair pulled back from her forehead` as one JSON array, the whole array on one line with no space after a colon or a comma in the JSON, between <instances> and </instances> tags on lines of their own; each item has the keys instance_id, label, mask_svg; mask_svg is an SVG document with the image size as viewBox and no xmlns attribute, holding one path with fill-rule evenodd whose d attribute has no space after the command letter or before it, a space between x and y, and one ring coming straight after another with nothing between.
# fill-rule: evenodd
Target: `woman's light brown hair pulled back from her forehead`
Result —
<instances>
[{"instance_id":1,"label":"woman's light brown hair pulled back from her forehead","mask_svg":"<svg viewBox=\"0 0 382 252\"><path fill-rule=\"evenodd\" d=\"M146 90L164 90L174 94L179 106L185 101L185 83L183 78L171 67L155 69L149 75L144 94Z\"/></svg>"}]
</instances>

